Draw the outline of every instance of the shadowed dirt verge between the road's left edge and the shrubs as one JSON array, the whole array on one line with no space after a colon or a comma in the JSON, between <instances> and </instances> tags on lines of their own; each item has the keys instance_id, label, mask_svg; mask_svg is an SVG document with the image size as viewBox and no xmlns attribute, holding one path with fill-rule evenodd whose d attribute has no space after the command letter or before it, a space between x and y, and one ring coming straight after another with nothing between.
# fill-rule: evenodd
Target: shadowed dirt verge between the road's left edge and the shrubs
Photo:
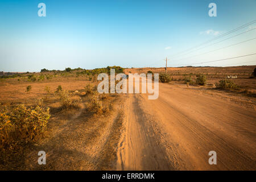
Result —
<instances>
[{"instance_id":1,"label":"shadowed dirt verge between the road's left edge and the shrubs","mask_svg":"<svg viewBox=\"0 0 256 182\"><path fill-rule=\"evenodd\" d=\"M121 135L123 105L116 97L105 115L88 117L84 107L64 125L49 131L42 143L31 146L22 169L26 170L112 170ZM38 164L38 151L46 151L46 165Z\"/></svg>"}]
</instances>

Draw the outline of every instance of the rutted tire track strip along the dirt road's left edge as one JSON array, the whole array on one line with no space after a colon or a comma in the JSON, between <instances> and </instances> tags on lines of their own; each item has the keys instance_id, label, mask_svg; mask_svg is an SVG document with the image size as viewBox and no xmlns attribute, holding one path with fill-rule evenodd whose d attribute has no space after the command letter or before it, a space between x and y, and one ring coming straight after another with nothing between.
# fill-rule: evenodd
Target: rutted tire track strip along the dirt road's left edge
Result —
<instances>
[{"instance_id":1,"label":"rutted tire track strip along the dirt road's left edge","mask_svg":"<svg viewBox=\"0 0 256 182\"><path fill-rule=\"evenodd\" d=\"M152 126L154 117L143 110L140 97L129 94L126 131L119 144L117 169L173 170L162 146L160 132Z\"/></svg>"}]
</instances>

